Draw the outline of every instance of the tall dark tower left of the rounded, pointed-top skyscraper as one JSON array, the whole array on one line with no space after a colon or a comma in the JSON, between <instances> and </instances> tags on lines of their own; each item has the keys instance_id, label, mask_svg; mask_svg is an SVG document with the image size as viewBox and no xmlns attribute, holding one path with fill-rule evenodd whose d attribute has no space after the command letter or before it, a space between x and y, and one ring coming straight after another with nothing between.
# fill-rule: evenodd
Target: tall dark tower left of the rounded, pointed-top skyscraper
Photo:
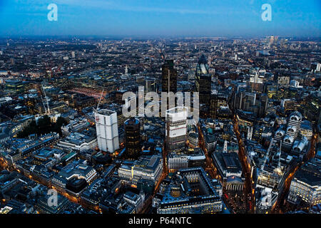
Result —
<instances>
[{"instance_id":1,"label":"tall dark tower left of the rounded, pointed-top skyscraper","mask_svg":"<svg viewBox=\"0 0 321 228\"><path fill-rule=\"evenodd\" d=\"M177 92L177 71L173 59L165 60L162 66L162 92Z\"/></svg>"}]
</instances>

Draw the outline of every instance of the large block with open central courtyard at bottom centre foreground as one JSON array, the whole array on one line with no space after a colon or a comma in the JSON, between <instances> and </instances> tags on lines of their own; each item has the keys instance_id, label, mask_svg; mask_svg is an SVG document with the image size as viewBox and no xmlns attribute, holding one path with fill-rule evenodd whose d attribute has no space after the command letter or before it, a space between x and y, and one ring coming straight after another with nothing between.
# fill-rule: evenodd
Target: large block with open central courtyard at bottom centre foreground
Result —
<instances>
[{"instance_id":1,"label":"large block with open central courtyard at bottom centre foreground","mask_svg":"<svg viewBox=\"0 0 321 228\"><path fill-rule=\"evenodd\" d=\"M179 170L165 187L158 214L216 213L222 211L218 187L201 167Z\"/></svg>"}]
</instances>

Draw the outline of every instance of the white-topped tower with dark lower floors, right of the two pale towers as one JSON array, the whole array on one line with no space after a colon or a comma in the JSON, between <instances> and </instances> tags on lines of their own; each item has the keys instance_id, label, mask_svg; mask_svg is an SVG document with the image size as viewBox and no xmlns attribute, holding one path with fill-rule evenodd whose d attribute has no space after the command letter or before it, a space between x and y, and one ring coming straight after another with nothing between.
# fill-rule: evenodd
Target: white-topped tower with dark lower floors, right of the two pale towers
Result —
<instances>
[{"instance_id":1,"label":"white-topped tower with dark lower floors, right of the two pale towers","mask_svg":"<svg viewBox=\"0 0 321 228\"><path fill-rule=\"evenodd\" d=\"M188 108L175 107L166 110L166 145L168 153L179 154L185 150Z\"/></svg>"}]
</instances>

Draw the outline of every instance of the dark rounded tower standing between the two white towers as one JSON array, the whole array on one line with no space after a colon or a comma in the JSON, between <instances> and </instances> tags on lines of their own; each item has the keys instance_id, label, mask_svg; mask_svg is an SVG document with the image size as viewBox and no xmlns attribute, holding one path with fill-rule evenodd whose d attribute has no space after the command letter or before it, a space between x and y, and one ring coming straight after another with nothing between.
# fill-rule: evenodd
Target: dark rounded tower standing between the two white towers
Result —
<instances>
[{"instance_id":1,"label":"dark rounded tower standing between the two white towers","mask_svg":"<svg viewBox=\"0 0 321 228\"><path fill-rule=\"evenodd\" d=\"M126 157L137 158L141 152L141 124L137 118L124 123L126 139Z\"/></svg>"}]
</instances>

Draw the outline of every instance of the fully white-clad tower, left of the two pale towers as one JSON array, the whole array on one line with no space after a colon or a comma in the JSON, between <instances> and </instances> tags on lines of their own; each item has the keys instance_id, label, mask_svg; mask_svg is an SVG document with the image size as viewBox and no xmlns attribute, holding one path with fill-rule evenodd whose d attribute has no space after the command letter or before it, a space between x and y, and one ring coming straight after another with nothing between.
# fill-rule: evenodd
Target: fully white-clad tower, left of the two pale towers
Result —
<instances>
[{"instance_id":1,"label":"fully white-clad tower, left of the two pale towers","mask_svg":"<svg viewBox=\"0 0 321 228\"><path fill-rule=\"evenodd\" d=\"M119 149L117 113L101 109L95 112L99 150L115 152Z\"/></svg>"}]
</instances>

